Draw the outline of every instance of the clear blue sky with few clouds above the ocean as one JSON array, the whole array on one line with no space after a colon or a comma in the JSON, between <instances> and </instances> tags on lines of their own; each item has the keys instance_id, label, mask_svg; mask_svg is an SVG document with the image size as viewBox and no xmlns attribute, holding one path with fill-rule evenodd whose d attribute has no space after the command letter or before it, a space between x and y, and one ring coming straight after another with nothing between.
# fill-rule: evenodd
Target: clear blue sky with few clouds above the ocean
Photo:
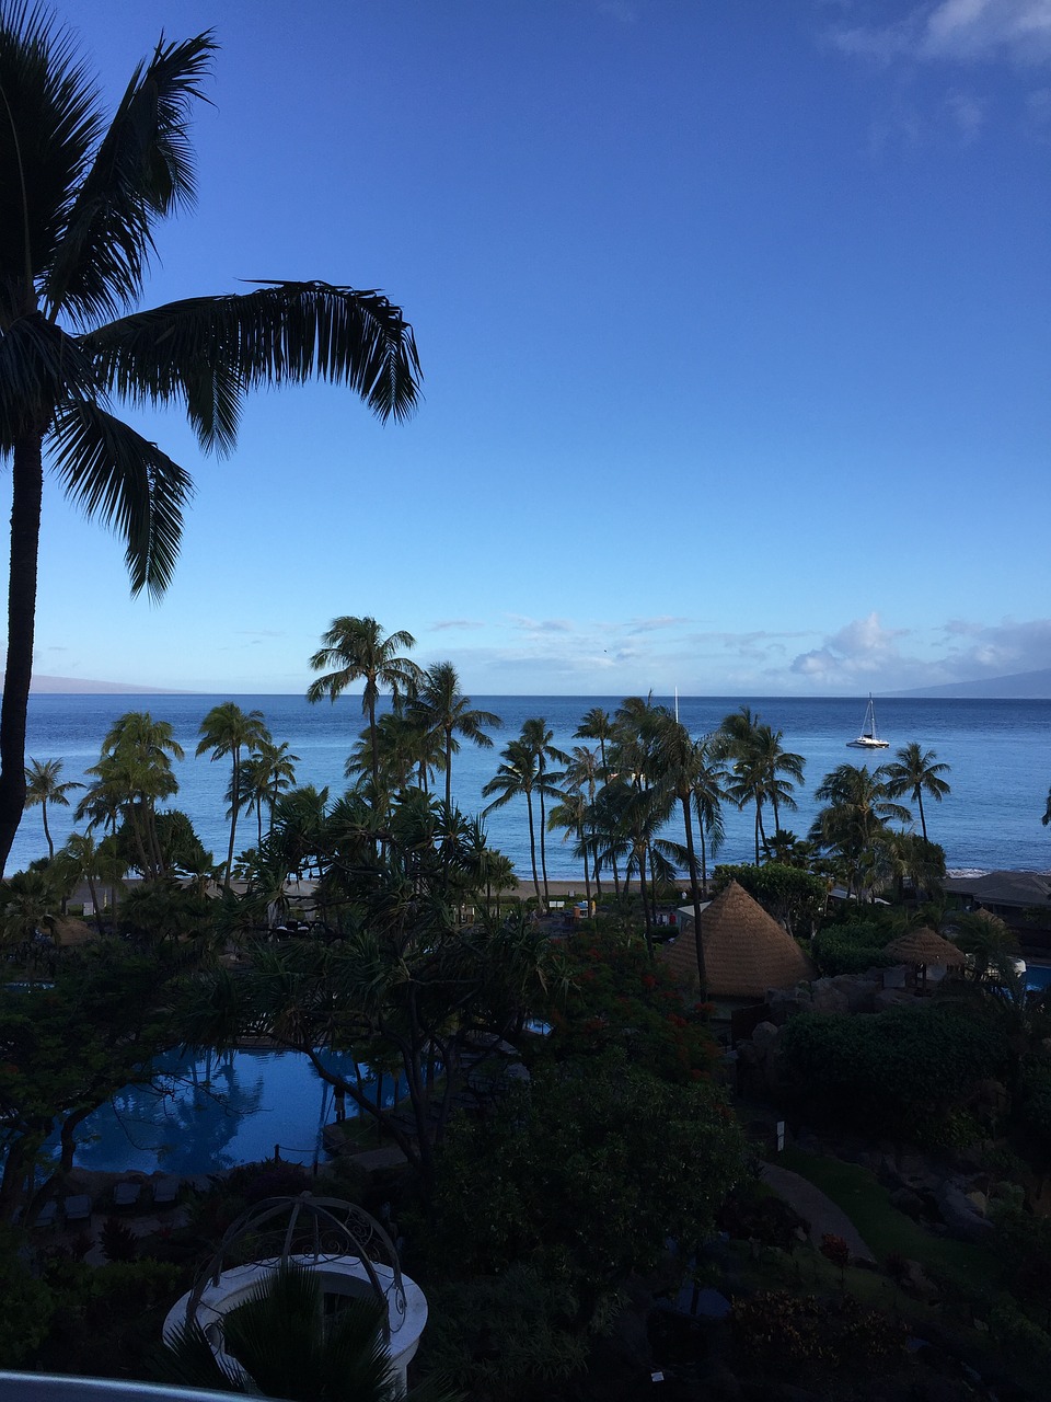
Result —
<instances>
[{"instance_id":1,"label":"clear blue sky with few clouds above the ocean","mask_svg":"<svg viewBox=\"0 0 1051 1402\"><path fill-rule=\"evenodd\" d=\"M217 31L149 303L383 287L425 400L248 401L175 582L50 484L36 669L301 691L335 614L468 691L1051 665L1051 0L77 0L115 101Z\"/></svg>"}]
</instances>

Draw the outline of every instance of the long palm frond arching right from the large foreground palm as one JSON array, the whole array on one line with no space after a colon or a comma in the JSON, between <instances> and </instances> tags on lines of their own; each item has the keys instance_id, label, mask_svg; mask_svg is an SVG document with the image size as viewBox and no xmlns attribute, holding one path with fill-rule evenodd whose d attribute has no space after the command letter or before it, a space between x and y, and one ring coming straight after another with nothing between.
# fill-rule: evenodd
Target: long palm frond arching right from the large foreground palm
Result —
<instances>
[{"instance_id":1,"label":"long palm frond arching right from the large foreground palm","mask_svg":"<svg viewBox=\"0 0 1051 1402\"><path fill-rule=\"evenodd\" d=\"M85 345L111 390L135 402L178 400L207 449L233 446L241 395L318 377L346 384L380 419L419 398L412 327L380 292L320 282L191 297L102 327Z\"/></svg>"}]
</instances>

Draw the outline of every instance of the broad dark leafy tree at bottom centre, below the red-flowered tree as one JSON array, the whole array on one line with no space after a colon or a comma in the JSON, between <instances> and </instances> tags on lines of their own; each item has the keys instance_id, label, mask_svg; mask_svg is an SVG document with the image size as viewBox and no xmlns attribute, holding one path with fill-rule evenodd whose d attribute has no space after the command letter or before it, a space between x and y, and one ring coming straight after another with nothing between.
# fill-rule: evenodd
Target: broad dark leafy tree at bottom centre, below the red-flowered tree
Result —
<instances>
[{"instance_id":1,"label":"broad dark leafy tree at bottom centre, below the red-flowered tree","mask_svg":"<svg viewBox=\"0 0 1051 1402\"><path fill-rule=\"evenodd\" d=\"M497 1116L453 1126L429 1255L468 1274L548 1262L587 1311L667 1237L702 1241L741 1176L741 1134L712 1085L668 1085L622 1050L542 1064Z\"/></svg>"}]
</instances>

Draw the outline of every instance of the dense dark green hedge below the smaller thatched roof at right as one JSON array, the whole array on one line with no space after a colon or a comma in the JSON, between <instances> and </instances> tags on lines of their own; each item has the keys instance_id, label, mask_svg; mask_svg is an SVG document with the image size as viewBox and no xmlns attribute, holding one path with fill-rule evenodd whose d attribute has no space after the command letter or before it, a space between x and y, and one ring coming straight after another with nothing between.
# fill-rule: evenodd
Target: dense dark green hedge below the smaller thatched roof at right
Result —
<instances>
[{"instance_id":1,"label":"dense dark green hedge below the smaller thatched roof at right","mask_svg":"<svg viewBox=\"0 0 1051 1402\"><path fill-rule=\"evenodd\" d=\"M856 1018L800 1014L785 1026L781 1047L795 1094L810 1110L860 1120L870 1133L911 1131L961 1106L1008 1057L991 1022L949 1002Z\"/></svg>"}]
</instances>

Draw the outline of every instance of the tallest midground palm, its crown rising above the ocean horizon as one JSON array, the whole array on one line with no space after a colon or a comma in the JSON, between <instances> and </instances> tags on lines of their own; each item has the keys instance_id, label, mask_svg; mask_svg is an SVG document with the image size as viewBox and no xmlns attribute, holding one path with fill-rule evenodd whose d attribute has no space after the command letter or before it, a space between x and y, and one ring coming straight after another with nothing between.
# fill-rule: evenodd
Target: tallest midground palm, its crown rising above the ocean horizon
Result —
<instances>
[{"instance_id":1,"label":"tallest midground palm, its crown rising above the ocean horizon","mask_svg":"<svg viewBox=\"0 0 1051 1402\"><path fill-rule=\"evenodd\" d=\"M364 681L362 712L369 716L369 743L373 760L373 784L380 784L380 753L376 737L376 702L380 687L388 687L395 702L402 693L415 693L423 673L408 658L399 658L399 648L413 648L416 639L399 629L384 638L376 618L355 618L341 614L321 637L321 646L310 659L311 670L325 672L307 687L307 701L328 697L335 702L355 681Z\"/></svg>"}]
</instances>

